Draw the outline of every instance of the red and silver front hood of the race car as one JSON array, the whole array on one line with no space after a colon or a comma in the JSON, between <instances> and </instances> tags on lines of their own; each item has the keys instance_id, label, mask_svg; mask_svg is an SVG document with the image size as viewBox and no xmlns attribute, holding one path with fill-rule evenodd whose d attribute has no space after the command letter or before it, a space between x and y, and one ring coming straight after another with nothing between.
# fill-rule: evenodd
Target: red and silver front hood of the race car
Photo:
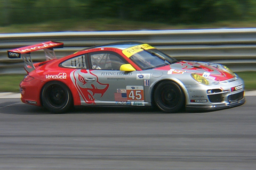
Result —
<instances>
[{"instance_id":1,"label":"red and silver front hood of the race car","mask_svg":"<svg viewBox=\"0 0 256 170\"><path fill-rule=\"evenodd\" d=\"M180 61L159 67L157 70L168 70L168 74L196 73L215 81L225 81L235 77L234 73L227 70L227 67L207 62Z\"/></svg>"}]
</instances>

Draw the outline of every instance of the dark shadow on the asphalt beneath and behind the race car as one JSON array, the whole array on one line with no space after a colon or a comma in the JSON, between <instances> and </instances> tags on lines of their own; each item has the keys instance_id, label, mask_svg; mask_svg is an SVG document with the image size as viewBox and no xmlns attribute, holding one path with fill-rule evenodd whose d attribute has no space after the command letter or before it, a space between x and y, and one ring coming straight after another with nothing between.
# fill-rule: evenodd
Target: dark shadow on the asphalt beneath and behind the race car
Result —
<instances>
[{"instance_id":1,"label":"dark shadow on the asphalt beneath and behind the race car","mask_svg":"<svg viewBox=\"0 0 256 170\"><path fill-rule=\"evenodd\" d=\"M181 111L178 113L164 113L156 107L145 106L75 106L62 114L195 114L211 113L214 111ZM44 107L27 105L20 100L6 100L0 103L0 113L14 115L47 115L54 114Z\"/></svg>"}]
</instances>

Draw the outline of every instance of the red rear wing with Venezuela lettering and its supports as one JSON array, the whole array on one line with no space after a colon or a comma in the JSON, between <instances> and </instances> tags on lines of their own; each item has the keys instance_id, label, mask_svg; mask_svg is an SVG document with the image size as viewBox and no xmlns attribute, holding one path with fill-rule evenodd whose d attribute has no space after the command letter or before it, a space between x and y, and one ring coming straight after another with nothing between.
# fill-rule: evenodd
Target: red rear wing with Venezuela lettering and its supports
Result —
<instances>
[{"instance_id":1,"label":"red rear wing with Venezuela lettering and its supports","mask_svg":"<svg viewBox=\"0 0 256 170\"><path fill-rule=\"evenodd\" d=\"M24 62L24 69L27 72L31 72L35 70L35 66L33 65L33 61L30 56L31 52L35 52L36 50L43 49L45 53L46 61L48 61L48 60L56 59L53 48L62 48L62 47L63 47L63 43L59 43L55 41L47 41L45 43L7 50L7 55L8 55L8 58L22 58Z\"/></svg>"}]
</instances>

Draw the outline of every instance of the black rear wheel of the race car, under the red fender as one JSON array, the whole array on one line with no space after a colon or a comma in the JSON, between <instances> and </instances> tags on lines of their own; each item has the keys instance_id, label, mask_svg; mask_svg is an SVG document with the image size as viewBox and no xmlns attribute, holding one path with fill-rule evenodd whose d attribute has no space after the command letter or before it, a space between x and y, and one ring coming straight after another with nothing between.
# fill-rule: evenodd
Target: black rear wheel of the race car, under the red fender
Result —
<instances>
[{"instance_id":1,"label":"black rear wheel of the race car, under the red fender","mask_svg":"<svg viewBox=\"0 0 256 170\"><path fill-rule=\"evenodd\" d=\"M59 81L47 82L41 93L42 105L52 113L65 113L73 106L69 88Z\"/></svg>"}]
</instances>

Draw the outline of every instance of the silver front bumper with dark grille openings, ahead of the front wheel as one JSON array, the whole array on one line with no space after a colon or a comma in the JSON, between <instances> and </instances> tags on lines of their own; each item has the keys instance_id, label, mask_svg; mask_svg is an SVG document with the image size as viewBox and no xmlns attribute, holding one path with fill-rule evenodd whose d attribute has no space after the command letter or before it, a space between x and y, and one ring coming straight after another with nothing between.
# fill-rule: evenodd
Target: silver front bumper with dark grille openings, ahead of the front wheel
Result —
<instances>
[{"instance_id":1,"label":"silver front bumper with dark grille openings, ahead of the front wheel","mask_svg":"<svg viewBox=\"0 0 256 170\"><path fill-rule=\"evenodd\" d=\"M198 84L188 87L187 111L212 111L243 105L244 82L234 78L213 82L210 86Z\"/></svg>"}]
</instances>

